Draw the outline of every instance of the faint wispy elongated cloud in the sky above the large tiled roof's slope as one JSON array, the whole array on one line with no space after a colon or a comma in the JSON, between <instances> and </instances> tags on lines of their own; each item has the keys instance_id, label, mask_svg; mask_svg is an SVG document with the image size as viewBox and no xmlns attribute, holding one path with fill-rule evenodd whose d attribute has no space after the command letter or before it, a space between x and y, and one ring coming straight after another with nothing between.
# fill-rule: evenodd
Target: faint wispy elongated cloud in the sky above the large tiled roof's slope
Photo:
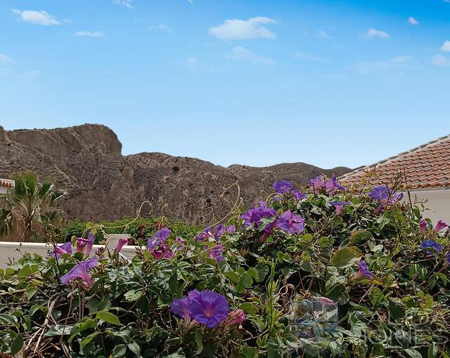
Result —
<instances>
[{"instance_id":1,"label":"faint wispy elongated cloud in the sky above the large tiled roof's slope","mask_svg":"<svg viewBox=\"0 0 450 358\"><path fill-rule=\"evenodd\" d=\"M409 55L397 56L385 61L363 61L354 66L356 74L403 74L404 69L412 67L413 58Z\"/></svg>"}]
</instances>

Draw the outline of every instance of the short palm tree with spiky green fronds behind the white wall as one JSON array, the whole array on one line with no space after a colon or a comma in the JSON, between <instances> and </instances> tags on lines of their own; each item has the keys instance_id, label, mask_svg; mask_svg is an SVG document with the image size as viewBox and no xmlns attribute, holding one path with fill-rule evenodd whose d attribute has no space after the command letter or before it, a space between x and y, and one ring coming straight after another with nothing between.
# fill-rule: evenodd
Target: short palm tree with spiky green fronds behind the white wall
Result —
<instances>
[{"instance_id":1,"label":"short palm tree with spiky green fronds behind the white wall","mask_svg":"<svg viewBox=\"0 0 450 358\"><path fill-rule=\"evenodd\" d=\"M13 177L15 188L2 198L0 234L17 235L21 241L37 241L46 234L61 211L55 205L65 194L53 183L38 183L37 175L27 172Z\"/></svg>"}]
</instances>

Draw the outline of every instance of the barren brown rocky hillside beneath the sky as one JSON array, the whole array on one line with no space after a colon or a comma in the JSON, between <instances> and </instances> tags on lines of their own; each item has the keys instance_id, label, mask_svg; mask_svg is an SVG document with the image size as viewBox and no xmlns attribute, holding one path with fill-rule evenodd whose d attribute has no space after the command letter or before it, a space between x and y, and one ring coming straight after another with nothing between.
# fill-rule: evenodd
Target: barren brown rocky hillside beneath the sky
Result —
<instances>
[{"instance_id":1,"label":"barren brown rocky hillside beneath the sky","mask_svg":"<svg viewBox=\"0 0 450 358\"><path fill-rule=\"evenodd\" d=\"M97 124L18 131L0 126L0 177L28 170L56 181L68 192L63 210L80 220L133 216L142 201L150 200L156 215L195 224L211 223L229 211L236 187L225 189L233 183L239 183L244 205L250 206L276 179L302 185L320 173L349 171L304 163L224 168L161 153L122 156L121 150L117 135Z\"/></svg>"}]
</instances>

